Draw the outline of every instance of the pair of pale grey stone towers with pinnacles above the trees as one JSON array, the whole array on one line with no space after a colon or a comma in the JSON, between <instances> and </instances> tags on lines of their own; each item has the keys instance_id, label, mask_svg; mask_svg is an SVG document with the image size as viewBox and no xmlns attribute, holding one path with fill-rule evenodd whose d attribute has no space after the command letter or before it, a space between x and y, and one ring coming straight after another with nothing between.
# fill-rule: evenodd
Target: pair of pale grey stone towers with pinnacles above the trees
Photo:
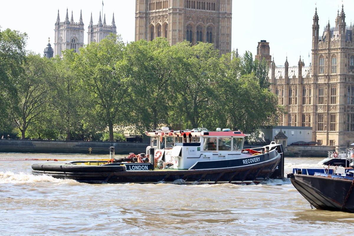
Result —
<instances>
[{"instance_id":1,"label":"pair of pale grey stone towers with pinnacles above the trees","mask_svg":"<svg viewBox=\"0 0 354 236\"><path fill-rule=\"evenodd\" d=\"M112 25L106 24L106 17L104 15L103 23L101 18L101 12L99 12L98 24L94 25L91 20L87 32L87 43L99 42L104 39L110 33L116 34L114 13L112 19ZM55 23L55 35L54 35L54 56L63 56L62 52L66 49L74 49L74 52L80 53L79 48L84 46L84 22L82 21L82 14L80 11L80 20L78 23L74 22L73 12L71 13L71 20L69 21L68 9L65 17L65 21L60 22L59 10L57 21Z\"/></svg>"}]
</instances>

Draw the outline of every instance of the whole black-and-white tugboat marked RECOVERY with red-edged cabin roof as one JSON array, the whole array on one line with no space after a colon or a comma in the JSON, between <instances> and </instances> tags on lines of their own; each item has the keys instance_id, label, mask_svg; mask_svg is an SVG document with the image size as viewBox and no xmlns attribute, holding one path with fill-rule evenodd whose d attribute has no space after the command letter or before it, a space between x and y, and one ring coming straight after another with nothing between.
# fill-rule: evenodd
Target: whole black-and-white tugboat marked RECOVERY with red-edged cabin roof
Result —
<instances>
[{"instance_id":1,"label":"whole black-and-white tugboat marked RECOVERY with red-edged cabin roof","mask_svg":"<svg viewBox=\"0 0 354 236\"><path fill-rule=\"evenodd\" d=\"M240 131L205 128L146 132L146 153L103 161L33 164L33 174L75 179L85 183L250 184L284 178L281 144L243 149Z\"/></svg>"}]
</instances>

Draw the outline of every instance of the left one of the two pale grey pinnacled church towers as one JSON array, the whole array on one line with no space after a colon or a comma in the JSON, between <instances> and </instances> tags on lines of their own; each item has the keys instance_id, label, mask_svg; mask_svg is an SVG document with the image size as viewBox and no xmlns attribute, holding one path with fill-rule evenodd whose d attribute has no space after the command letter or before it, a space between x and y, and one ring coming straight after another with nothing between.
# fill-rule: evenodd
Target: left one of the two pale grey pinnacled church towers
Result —
<instances>
[{"instance_id":1,"label":"left one of the two pale grey pinnacled church towers","mask_svg":"<svg viewBox=\"0 0 354 236\"><path fill-rule=\"evenodd\" d=\"M84 22L82 21L81 11L80 20L76 23L74 22L73 12L69 21L68 9L65 20L60 22L58 10L54 32L54 56L62 57L62 51L66 49L74 49L75 52L80 53L79 48L84 46Z\"/></svg>"}]
</instances>

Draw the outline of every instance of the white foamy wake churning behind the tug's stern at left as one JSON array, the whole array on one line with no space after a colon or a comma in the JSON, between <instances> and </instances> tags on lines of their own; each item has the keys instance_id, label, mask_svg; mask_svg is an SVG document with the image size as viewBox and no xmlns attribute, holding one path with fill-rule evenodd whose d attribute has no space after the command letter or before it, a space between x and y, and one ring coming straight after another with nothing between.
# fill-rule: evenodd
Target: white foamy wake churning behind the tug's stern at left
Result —
<instances>
[{"instance_id":1,"label":"white foamy wake churning behind the tug's stern at left","mask_svg":"<svg viewBox=\"0 0 354 236\"><path fill-rule=\"evenodd\" d=\"M51 183L67 183L67 179L56 179L48 175L33 175L29 173L13 173L11 171L0 172L0 184L5 183L35 183L35 182L51 182Z\"/></svg>"}]
</instances>

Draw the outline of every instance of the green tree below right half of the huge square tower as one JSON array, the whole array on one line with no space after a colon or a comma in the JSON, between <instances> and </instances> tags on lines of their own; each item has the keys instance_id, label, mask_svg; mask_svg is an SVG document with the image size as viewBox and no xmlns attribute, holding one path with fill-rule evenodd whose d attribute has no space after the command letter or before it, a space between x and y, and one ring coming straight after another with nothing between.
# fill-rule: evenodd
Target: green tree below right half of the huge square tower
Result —
<instances>
[{"instance_id":1,"label":"green tree below right half of the huge square tower","mask_svg":"<svg viewBox=\"0 0 354 236\"><path fill-rule=\"evenodd\" d=\"M171 47L179 58L174 80L170 83L173 94L174 113L186 125L198 128L210 124L213 119L211 109L216 99L216 77L219 68L219 52L212 44L199 42L192 47L188 42ZM173 121L170 121L171 123Z\"/></svg>"}]
</instances>

